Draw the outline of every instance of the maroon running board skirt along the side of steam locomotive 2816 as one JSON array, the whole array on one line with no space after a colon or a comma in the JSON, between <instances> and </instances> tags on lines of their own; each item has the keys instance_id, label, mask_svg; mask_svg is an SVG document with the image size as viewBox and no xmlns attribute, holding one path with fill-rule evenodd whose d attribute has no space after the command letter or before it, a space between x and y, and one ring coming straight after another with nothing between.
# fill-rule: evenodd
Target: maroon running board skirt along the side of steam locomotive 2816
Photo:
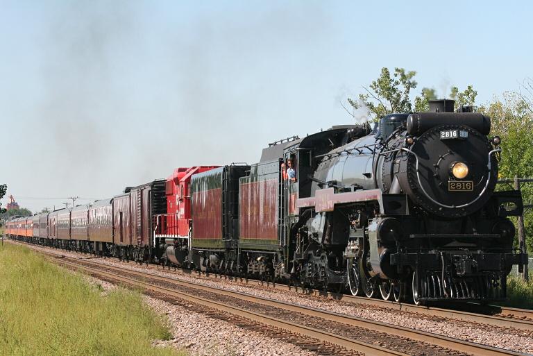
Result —
<instances>
[{"instance_id":1,"label":"maroon running board skirt along the side of steam locomotive 2816","mask_svg":"<svg viewBox=\"0 0 533 356\"><path fill-rule=\"evenodd\" d=\"M407 215L405 194L382 194L380 189L358 190L356 192L335 193L335 188L317 189L315 196L296 199L296 207L314 207L316 212L332 212L337 204L364 203L375 201L380 212L389 215Z\"/></svg>"}]
</instances>

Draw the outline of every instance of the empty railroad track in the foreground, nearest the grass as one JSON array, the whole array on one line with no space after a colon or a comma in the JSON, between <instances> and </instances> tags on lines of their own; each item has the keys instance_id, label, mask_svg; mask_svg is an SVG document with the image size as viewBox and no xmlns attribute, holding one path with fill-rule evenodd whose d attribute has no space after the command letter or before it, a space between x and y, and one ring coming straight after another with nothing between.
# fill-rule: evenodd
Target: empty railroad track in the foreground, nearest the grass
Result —
<instances>
[{"instance_id":1,"label":"empty railroad track in the foreground, nearest the grass","mask_svg":"<svg viewBox=\"0 0 533 356\"><path fill-rule=\"evenodd\" d=\"M285 341L292 344L298 341L298 346L310 346L308 350L321 355L524 355L237 291L154 276L94 260L58 258L55 253L51 255L55 255L51 259L60 264L83 269L98 278L142 287L151 293L160 294L164 299L185 300L183 305L193 303L196 310L204 314L207 310L208 314L214 314L217 319L235 323L237 318L236 325L247 325L252 330L260 331L264 330L264 325L269 325L270 337L284 337Z\"/></svg>"}]
</instances>

